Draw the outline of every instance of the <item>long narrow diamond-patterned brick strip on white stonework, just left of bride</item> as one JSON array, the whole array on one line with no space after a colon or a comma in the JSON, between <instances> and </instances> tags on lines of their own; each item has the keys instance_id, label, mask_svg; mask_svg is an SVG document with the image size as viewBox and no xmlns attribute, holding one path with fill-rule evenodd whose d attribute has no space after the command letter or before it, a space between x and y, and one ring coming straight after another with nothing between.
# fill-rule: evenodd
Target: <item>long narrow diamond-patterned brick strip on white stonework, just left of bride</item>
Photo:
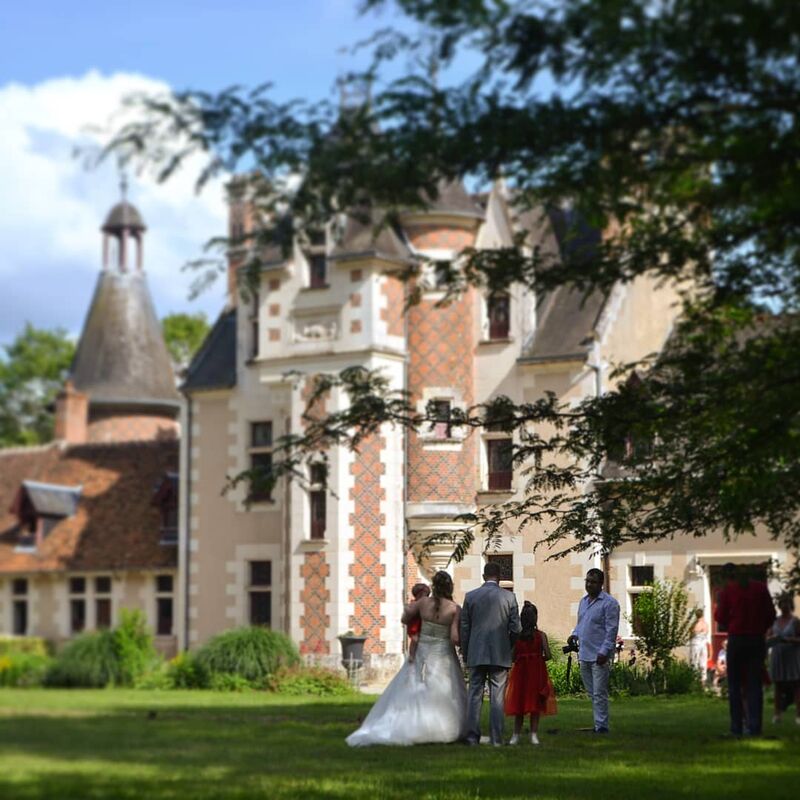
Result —
<instances>
[{"instance_id":1,"label":"long narrow diamond-patterned brick strip on white stonework, just left of bride","mask_svg":"<svg viewBox=\"0 0 800 800\"><path fill-rule=\"evenodd\" d=\"M385 543L380 531L386 522L380 505L386 496L381 480L386 468L380 458L385 446L383 437L371 436L362 444L350 467L354 479L354 488L350 490L354 513L350 515L353 538L349 545L355 557L350 567L350 575L355 579L350 592L355 612L350 617L350 627L367 637L365 653L385 652L381 631L386 620L380 613L380 604L386 599L381 588L386 568L381 564Z\"/></svg>"}]
</instances>

